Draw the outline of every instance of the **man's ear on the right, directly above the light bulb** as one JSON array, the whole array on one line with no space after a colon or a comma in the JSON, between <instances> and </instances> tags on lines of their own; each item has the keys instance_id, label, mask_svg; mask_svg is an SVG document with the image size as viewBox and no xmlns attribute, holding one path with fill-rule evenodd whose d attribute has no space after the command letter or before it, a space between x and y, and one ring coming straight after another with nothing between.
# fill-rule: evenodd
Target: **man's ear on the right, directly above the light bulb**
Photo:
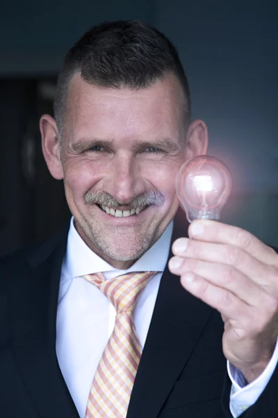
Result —
<instances>
[{"instance_id":1,"label":"man's ear on the right, directly above the light bulb","mask_svg":"<svg viewBox=\"0 0 278 418\"><path fill-rule=\"evenodd\" d=\"M208 128L206 123L197 119L190 123L187 133L186 160L204 155L208 149Z\"/></svg>"}]
</instances>

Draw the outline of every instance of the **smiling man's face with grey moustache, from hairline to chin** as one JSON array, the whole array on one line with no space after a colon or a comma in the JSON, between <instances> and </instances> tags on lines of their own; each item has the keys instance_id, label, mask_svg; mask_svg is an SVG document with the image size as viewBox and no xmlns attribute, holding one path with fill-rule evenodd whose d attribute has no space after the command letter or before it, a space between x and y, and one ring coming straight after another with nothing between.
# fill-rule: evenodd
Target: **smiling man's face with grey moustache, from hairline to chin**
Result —
<instances>
[{"instance_id":1,"label":"smiling man's face with grey moustache, from hairline to chin","mask_svg":"<svg viewBox=\"0 0 278 418\"><path fill-rule=\"evenodd\" d=\"M186 159L181 88L105 88L74 75L61 143L65 194L87 245L118 268L161 236L179 206ZM134 213L135 212L135 213Z\"/></svg>"}]
</instances>

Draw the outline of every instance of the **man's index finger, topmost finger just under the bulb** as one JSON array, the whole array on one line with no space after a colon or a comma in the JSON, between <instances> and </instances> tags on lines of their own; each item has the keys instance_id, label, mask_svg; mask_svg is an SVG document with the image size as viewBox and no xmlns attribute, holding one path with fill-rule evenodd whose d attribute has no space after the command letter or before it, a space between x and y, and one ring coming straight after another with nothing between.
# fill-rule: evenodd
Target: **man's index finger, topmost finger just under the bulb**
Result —
<instances>
[{"instance_id":1,"label":"man's index finger, topmost finger just under the bulb","mask_svg":"<svg viewBox=\"0 0 278 418\"><path fill-rule=\"evenodd\" d=\"M268 247L252 233L207 219L198 219L190 224L188 235L195 240L235 245L263 263L278 264L278 256L274 249Z\"/></svg>"}]
</instances>

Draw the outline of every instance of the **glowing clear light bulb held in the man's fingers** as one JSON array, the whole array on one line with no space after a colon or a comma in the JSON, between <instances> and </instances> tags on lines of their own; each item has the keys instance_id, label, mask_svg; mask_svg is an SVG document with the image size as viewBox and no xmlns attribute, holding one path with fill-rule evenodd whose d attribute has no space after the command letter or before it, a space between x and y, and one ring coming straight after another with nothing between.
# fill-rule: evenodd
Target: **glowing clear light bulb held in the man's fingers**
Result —
<instances>
[{"instance_id":1,"label":"glowing clear light bulb held in the man's fingers","mask_svg":"<svg viewBox=\"0 0 278 418\"><path fill-rule=\"evenodd\" d=\"M183 164L177 174L176 189L189 222L218 221L231 192L231 174L217 158L199 155Z\"/></svg>"}]
</instances>

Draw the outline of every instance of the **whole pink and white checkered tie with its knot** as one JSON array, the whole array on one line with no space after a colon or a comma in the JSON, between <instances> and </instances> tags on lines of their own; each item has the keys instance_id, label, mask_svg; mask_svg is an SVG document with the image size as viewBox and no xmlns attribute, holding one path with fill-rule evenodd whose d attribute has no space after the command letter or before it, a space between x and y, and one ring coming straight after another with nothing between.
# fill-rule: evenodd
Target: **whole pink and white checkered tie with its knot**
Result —
<instances>
[{"instance_id":1,"label":"whole pink and white checkered tie with its knot","mask_svg":"<svg viewBox=\"0 0 278 418\"><path fill-rule=\"evenodd\" d=\"M142 347L133 323L133 309L140 291L156 272L124 274L105 280L103 274L87 274L113 303L115 327L104 349L88 398L85 418L125 418Z\"/></svg>"}]
</instances>

